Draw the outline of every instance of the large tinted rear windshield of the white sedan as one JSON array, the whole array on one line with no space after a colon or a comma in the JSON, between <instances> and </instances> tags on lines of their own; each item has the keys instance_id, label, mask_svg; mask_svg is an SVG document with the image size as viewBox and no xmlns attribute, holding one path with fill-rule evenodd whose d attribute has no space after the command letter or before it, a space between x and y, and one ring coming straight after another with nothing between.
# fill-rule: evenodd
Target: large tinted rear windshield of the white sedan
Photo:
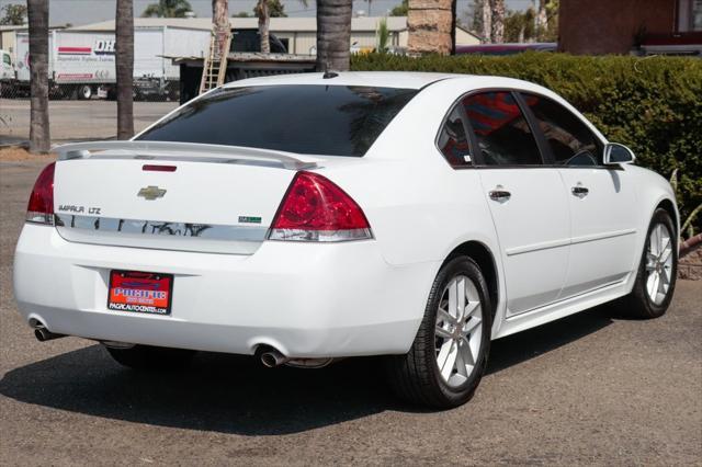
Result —
<instances>
[{"instance_id":1,"label":"large tinted rear windshield of the white sedan","mask_svg":"<svg viewBox=\"0 0 702 467\"><path fill-rule=\"evenodd\" d=\"M414 89L317 84L223 89L137 139L361 157L415 94Z\"/></svg>"}]
</instances>

